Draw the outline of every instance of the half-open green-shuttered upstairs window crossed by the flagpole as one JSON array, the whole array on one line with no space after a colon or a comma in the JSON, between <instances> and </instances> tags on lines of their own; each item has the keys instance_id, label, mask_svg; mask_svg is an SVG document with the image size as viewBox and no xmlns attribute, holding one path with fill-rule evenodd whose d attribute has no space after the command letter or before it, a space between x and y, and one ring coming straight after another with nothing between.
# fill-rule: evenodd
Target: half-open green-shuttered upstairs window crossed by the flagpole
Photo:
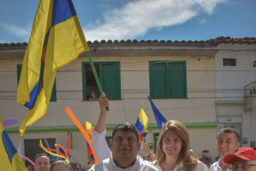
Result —
<instances>
[{"instance_id":1,"label":"half-open green-shuttered upstairs window crossed by the flagpole","mask_svg":"<svg viewBox=\"0 0 256 171\"><path fill-rule=\"evenodd\" d=\"M120 99L120 62L94 62L94 67L108 99ZM83 101L88 101L92 92L99 88L89 62L82 62Z\"/></svg>"}]
</instances>

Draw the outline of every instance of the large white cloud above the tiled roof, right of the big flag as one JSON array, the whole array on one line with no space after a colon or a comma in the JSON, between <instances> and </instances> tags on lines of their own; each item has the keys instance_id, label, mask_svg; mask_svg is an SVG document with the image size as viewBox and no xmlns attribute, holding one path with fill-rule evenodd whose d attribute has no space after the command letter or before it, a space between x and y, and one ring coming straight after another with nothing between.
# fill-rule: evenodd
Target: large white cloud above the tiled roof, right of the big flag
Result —
<instances>
[{"instance_id":1,"label":"large white cloud above the tiled roof, right of the big flag","mask_svg":"<svg viewBox=\"0 0 256 171\"><path fill-rule=\"evenodd\" d=\"M126 40L142 36L149 29L170 27L199 13L212 14L226 0L140 0L106 13L105 21L85 30L86 40Z\"/></svg>"}]
</instances>

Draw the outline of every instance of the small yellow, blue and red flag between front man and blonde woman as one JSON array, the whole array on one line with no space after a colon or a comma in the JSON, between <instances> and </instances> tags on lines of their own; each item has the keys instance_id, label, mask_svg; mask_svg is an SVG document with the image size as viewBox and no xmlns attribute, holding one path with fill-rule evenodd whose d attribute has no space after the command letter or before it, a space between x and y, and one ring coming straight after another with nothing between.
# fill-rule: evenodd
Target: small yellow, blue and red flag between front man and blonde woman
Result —
<instances>
[{"instance_id":1,"label":"small yellow, blue and red flag between front man and blonde woman","mask_svg":"<svg viewBox=\"0 0 256 171\"><path fill-rule=\"evenodd\" d=\"M135 124L136 128L138 129L140 141L142 141L144 137L146 137L146 134L148 133L148 131L146 131L146 129L148 128L148 124L149 124L149 118L148 116L146 116L146 113L143 107L141 107L140 114Z\"/></svg>"}]
</instances>

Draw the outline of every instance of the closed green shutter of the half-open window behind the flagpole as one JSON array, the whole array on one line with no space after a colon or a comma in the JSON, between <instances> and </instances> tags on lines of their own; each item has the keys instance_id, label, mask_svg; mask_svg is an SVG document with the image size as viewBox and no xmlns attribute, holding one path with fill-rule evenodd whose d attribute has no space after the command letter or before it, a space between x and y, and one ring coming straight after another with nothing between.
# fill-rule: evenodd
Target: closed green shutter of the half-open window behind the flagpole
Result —
<instances>
[{"instance_id":1,"label":"closed green shutter of the half-open window behind the flagpole","mask_svg":"<svg viewBox=\"0 0 256 171\"><path fill-rule=\"evenodd\" d=\"M120 99L120 64L102 64L100 80L109 99Z\"/></svg>"}]
</instances>

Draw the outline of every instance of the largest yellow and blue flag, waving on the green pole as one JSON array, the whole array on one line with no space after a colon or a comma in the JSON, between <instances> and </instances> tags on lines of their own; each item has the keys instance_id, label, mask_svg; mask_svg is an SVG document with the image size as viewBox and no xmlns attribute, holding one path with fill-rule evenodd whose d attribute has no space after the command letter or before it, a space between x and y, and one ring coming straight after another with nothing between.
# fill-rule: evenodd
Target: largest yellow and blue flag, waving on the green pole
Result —
<instances>
[{"instance_id":1,"label":"largest yellow and blue flag, waving on the green pole","mask_svg":"<svg viewBox=\"0 0 256 171\"><path fill-rule=\"evenodd\" d=\"M17 103L29 108L19 131L47 111L56 70L89 51L71 0L40 0L25 51Z\"/></svg>"}]
</instances>

